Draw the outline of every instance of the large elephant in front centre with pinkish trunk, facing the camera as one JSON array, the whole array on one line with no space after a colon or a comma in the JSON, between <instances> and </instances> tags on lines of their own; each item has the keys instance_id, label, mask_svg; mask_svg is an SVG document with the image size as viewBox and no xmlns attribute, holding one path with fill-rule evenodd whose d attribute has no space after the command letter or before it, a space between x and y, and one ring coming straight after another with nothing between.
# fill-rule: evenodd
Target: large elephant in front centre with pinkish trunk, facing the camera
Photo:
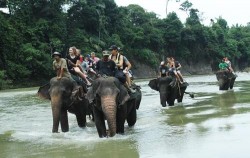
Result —
<instances>
[{"instance_id":1,"label":"large elephant in front centre with pinkish trunk, facing the camera","mask_svg":"<svg viewBox=\"0 0 250 158\"><path fill-rule=\"evenodd\" d=\"M136 123L136 109L139 109L141 102L141 91L139 86L135 89L136 92L129 95L127 89L115 77L99 77L94 80L86 97L94 103L92 109L100 138L113 137L116 133L123 134L126 120L128 126Z\"/></svg>"}]
</instances>

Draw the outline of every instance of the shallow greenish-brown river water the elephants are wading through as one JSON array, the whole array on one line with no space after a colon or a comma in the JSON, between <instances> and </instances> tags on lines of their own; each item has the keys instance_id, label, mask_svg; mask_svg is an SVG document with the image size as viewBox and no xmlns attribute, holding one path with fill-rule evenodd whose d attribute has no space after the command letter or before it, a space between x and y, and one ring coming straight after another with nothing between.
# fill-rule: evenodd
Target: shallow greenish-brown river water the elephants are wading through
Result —
<instances>
[{"instance_id":1,"label":"shallow greenish-brown river water the elephants are wading through","mask_svg":"<svg viewBox=\"0 0 250 158\"><path fill-rule=\"evenodd\" d=\"M37 98L37 88L0 91L0 157L249 157L250 74L239 73L229 91L219 91L215 75L185 79L195 98L167 108L148 80L137 81L136 125L108 139L90 120L79 128L72 114L70 132L52 134L50 102Z\"/></svg>"}]
</instances>

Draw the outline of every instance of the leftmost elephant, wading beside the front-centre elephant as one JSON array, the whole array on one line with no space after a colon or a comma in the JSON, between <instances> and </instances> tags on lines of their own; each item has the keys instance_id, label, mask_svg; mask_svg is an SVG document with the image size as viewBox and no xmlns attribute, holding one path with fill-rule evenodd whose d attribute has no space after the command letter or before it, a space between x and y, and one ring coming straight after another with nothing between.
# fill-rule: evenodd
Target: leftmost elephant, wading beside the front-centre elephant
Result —
<instances>
[{"instance_id":1,"label":"leftmost elephant, wading beside the front-centre elephant","mask_svg":"<svg viewBox=\"0 0 250 158\"><path fill-rule=\"evenodd\" d=\"M79 127L85 127L86 115L89 114L89 102L84 97L84 93L81 86L66 77L60 80L54 77L49 84L39 88L38 96L51 100L53 133L58 132L59 122L62 132L69 131L67 111L76 115Z\"/></svg>"}]
</instances>

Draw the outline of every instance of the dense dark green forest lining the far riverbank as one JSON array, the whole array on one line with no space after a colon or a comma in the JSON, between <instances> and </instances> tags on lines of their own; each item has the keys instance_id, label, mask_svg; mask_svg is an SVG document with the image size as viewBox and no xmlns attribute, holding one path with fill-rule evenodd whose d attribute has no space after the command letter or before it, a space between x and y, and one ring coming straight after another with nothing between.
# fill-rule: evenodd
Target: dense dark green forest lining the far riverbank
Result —
<instances>
[{"instance_id":1,"label":"dense dark green forest lining the far riverbank","mask_svg":"<svg viewBox=\"0 0 250 158\"><path fill-rule=\"evenodd\" d=\"M175 12L160 19L138 5L118 7L114 0L1 1L0 89L48 80L54 74L51 53L70 46L83 54L116 44L126 56L155 66L166 56L187 63L206 60L217 67L227 56L240 70L250 63L250 25L229 27L221 17L205 26L199 10L183 1L182 23ZM99 54L98 54L99 53Z\"/></svg>"}]
</instances>

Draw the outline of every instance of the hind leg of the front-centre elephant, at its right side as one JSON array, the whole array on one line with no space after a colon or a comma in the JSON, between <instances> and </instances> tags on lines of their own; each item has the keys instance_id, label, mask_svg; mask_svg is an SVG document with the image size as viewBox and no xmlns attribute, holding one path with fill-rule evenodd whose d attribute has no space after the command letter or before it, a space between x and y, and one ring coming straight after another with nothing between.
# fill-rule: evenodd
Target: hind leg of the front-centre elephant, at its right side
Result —
<instances>
[{"instance_id":1,"label":"hind leg of the front-centre elephant, at its right side","mask_svg":"<svg viewBox=\"0 0 250 158\"><path fill-rule=\"evenodd\" d=\"M135 103L135 100L128 103L127 122L129 127L134 126L136 123L137 116Z\"/></svg>"}]
</instances>

